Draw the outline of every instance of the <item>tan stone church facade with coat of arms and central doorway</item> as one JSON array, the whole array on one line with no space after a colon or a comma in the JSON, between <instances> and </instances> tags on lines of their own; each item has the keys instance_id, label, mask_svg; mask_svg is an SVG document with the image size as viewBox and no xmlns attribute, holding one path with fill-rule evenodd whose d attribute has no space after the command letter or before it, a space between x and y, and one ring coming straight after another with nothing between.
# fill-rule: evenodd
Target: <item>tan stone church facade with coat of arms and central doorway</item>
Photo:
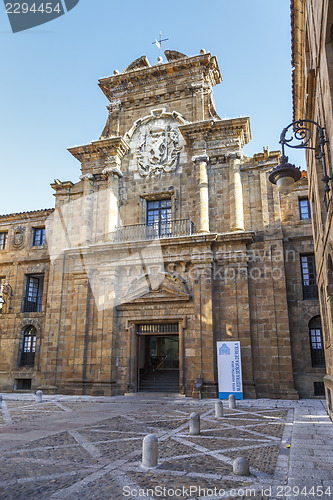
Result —
<instances>
[{"instance_id":1,"label":"tan stone church facade with coat of arms and central doorway","mask_svg":"<svg viewBox=\"0 0 333 500\"><path fill-rule=\"evenodd\" d=\"M320 392L306 174L280 198L280 152L244 156L249 118L217 114L216 58L166 57L100 80L107 124L55 209L0 216L2 391L216 397L239 340L245 397Z\"/></svg>"}]
</instances>

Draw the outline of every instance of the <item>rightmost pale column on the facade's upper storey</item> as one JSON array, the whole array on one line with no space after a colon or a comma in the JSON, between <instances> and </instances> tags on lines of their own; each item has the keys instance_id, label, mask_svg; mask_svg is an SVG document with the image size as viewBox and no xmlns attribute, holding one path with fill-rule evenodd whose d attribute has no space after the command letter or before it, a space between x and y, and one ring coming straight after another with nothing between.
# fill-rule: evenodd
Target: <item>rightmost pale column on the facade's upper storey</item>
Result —
<instances>
[{"instance_id":1,"label":"rightmost pale column on the facade's upper storey","mask_svg":"<svg viewBox=\"0 0 333 500\"><path fill-rule=\"evenodd\" d=\"M229 186L230 186L230 230L244 231L243 187L240 173L239 153L230 156Z\"/></svg>"}]
</instances>

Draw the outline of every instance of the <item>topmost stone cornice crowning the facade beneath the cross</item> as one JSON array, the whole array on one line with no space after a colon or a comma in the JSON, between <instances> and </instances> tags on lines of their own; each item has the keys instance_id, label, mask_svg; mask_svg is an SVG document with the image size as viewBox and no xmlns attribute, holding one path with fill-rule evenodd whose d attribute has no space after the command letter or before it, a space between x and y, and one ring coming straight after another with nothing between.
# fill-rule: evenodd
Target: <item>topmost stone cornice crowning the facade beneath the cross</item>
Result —
<instances>
[{"instance_id":1,"label":"topmost stone cornice crowning the facade beneath the cross","mask_svg":"<svg viewBox=\"0 0 333 500\"><path fill-rule=\"evenodd\" d=\"M207 53L102 78L98 84L112 102L125 94L126 96L137 95L140 87L143 86L146 92L149 86L156 92L156 80L162 79L174 85L175 74L191 74L193 81L195 71L198 72L198 76L201 75L201 79L204 74L204 79L210 86L222 81L216 57Z\"/></svg>"}]
</instances>

